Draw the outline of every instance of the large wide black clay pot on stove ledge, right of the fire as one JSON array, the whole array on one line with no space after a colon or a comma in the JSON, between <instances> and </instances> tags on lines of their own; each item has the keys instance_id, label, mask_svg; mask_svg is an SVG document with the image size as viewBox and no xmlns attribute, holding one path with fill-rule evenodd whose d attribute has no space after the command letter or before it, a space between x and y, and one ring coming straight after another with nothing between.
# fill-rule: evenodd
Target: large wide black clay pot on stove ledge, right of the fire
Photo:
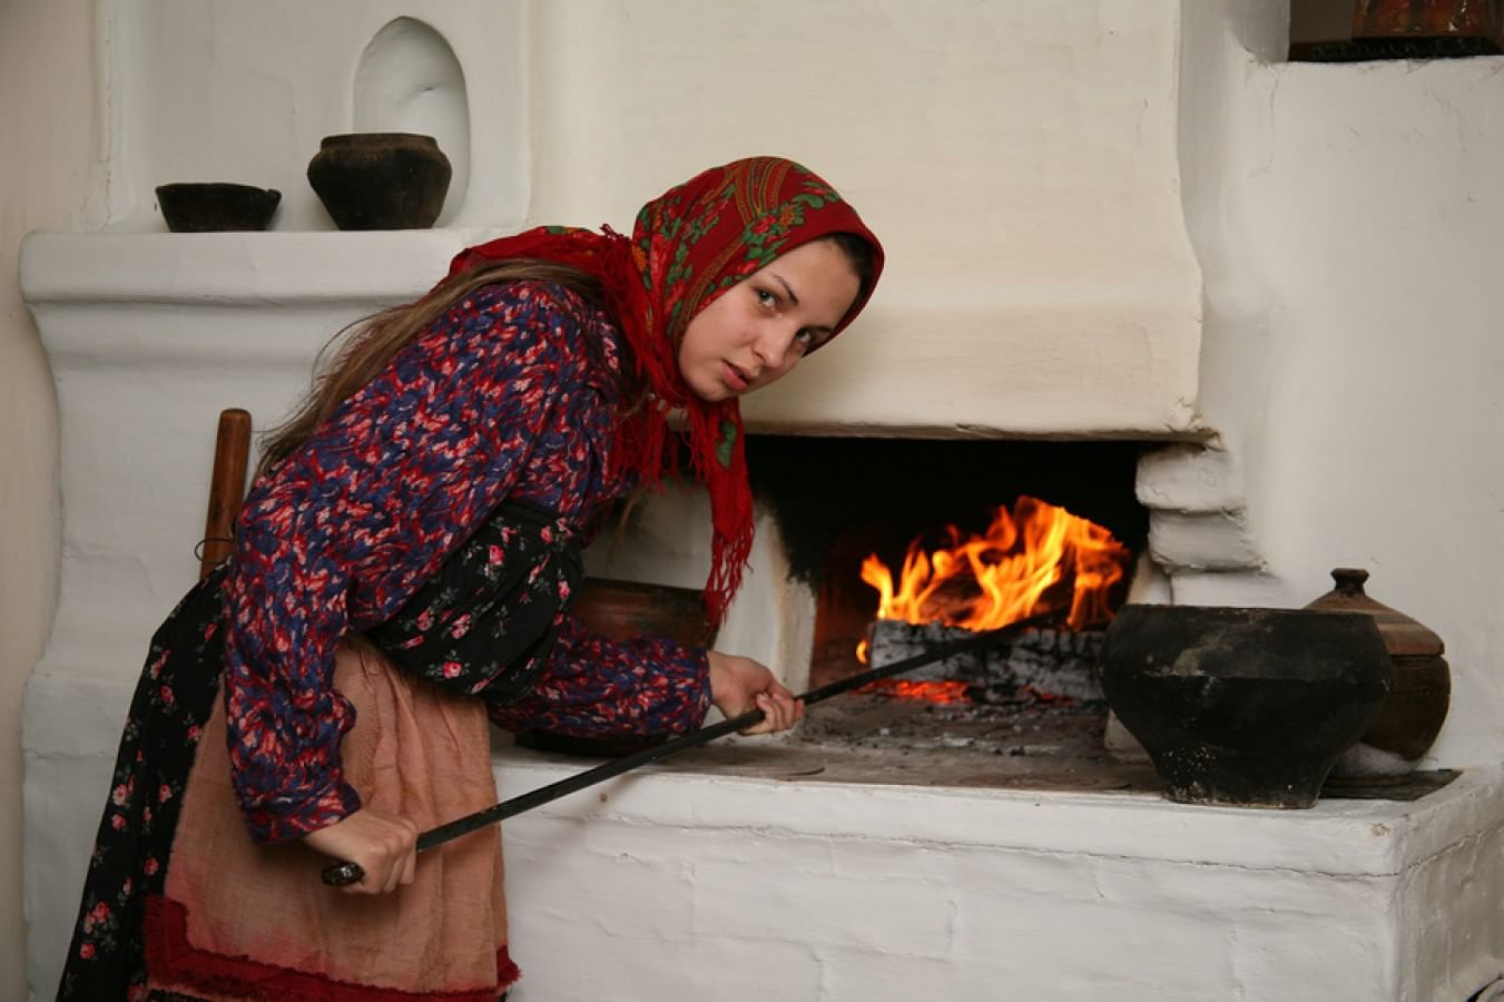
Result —
<instances>
[{"instance_id":1,"label":"large wide black clay pot on stove ledge, right of the fire","mask_svg":"<svg viewBox=\"0 0 1504 1002\"><path fill-rule=\"evenodd\" d=\"M1102 689L1181 803L1307 808L1390 691L1372 617L1128 605Z\"/></svg>"}]
</instances>

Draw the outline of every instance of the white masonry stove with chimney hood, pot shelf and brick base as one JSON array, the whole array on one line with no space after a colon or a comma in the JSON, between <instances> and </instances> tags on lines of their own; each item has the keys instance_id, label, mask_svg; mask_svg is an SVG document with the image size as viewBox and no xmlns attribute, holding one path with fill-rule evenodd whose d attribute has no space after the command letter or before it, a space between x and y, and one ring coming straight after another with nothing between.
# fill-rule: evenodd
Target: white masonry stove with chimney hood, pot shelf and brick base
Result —
<instances>
[{"instance_id":1,"label":"white masonry stove with chimney hood, pot shelf and brick base","mask_svg":"<svg viewBox=\"0 0 1504 1002\"><path fill-rule=\"evenodd\" d=\"M808 161L890 253L871 314L749 402L757 457L794 451L787 439L1038 448L1054 469L1111 456L1133 555L1119 600L1298 605L1327 587L1283 581L1263 549L1251 498L1286 483L1271 463L1304 460L1263 448L1260 334L1238 326L1244 283L1262 277L1232 274L1241 245L1208 200L1236 196L1262 158L1227 123L1272 98L1214 98L1272 89L1250 50L1280 35L1280 5L773 3L763 14L809 36L779 35L755 107L719 69L766 53L719 5L104 6L116 221L33 235L23 254L57 385L63 504L59 612L24 709L35 999L56 985L147 638L196 579L218 412L245 408L266 429L335 329L424 292L462 247L543 221L624 230L642 197L708 162ZM790 72L821 60L830 93ZM405 66L442 72L409 81L403 104L373 77ZM244 116L232 141L224 113L272 95L277 125ZM686 116L705 131L687 146ZM429 122L466 161L439 229L329 232L301 181L319 137ZM143 196L247 172L224 179L284 191L272 232L162 233ZM803 689L853 627L845 606L821 609L788 509L787 484L760 484L750 570L716 645ZM591 570L698 587L707 540L704 501L671 490ZM981 754L732 740L507 823L514 999L1496 997L1498 651L1418 615L1456 673L1453 730L1424 767L1460 775L1427 796L1175 805L1095 734L1105 772L1078 782L1041 764L1057 761L1035 754L1048 736L1024 731ZM949 764L901 764L929 757ZM502 797L584 767L504 736L495 761ZM1128 781L1093 778L1108 773Z\"/></svg>"}]
</instances>

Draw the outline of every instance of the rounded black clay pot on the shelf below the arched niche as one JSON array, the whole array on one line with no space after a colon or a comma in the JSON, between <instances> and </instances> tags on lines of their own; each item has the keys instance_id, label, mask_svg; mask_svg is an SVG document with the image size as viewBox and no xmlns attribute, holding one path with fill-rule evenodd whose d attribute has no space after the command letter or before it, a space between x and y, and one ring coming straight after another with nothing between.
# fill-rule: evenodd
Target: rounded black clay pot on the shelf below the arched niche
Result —
<instances>
[{"instance_id":1,"label":"rounded black clay pot on the shelf below the arched niche","mask_svg":"<svg viewBox=\"0 0 1504 1002\"><path fill-rule=\"evenodd\" d=\"M450 158L432 135L326 135L308 161L313 185L341 230L426 230L444 209Z\"/></svg>"}]
</instances>

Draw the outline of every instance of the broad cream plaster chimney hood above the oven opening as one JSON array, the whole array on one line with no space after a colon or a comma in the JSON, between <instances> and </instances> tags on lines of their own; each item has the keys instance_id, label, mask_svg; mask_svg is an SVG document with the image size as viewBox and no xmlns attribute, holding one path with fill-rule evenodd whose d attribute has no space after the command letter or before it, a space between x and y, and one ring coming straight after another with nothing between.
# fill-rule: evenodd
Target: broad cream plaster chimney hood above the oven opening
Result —
<instances>
[{"instance_id":1,"label":"broad cream plaster chimney hood above the oven opening","mask_svg":"<svg viewBox=\"0 0 1504 1002\"><path fill-rule=\"evenodd\" d=\"M808 162L889 251L761 430L1187 435L1200 274L1175 158L1179 5L538 5L532 218L630 224L689 170ZM793 27L797 26L797 27ZM588 155L582 155L588 150Z\"/></svg>"}]
</instances>

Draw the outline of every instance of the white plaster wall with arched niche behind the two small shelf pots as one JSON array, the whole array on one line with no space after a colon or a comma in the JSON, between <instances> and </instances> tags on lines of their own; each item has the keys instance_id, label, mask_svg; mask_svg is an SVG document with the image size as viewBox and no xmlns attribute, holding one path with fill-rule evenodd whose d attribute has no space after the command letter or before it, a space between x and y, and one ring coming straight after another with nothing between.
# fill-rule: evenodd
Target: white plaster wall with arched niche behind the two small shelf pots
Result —
<instances>
[{"instance_id":1,"label":"white plaster wall with arched niche behind the two small shelf pots","mask_svg":"<svg viewBox=\"0 0 1504 1002\"><path fill-rule=\"evenodd\" d=\"M156 185L233 181L281 191L274 230L332 230L307 181L319 140L402 128L433 134L441 146L465 135L465 149L454 150L463 159L456 175L463 203L447 202L445 224L517 227L528 206L526 8L523 0L102 0L111 224L161 230ZM384 66L378 47L365 69L403 74L391 81L394 92L382 93L368 75L358 80L367 47L397 18L432 29L453 51L465 92L483 101L456 107L454 71L430 45Z\"/></svg>"}]
</instances>

